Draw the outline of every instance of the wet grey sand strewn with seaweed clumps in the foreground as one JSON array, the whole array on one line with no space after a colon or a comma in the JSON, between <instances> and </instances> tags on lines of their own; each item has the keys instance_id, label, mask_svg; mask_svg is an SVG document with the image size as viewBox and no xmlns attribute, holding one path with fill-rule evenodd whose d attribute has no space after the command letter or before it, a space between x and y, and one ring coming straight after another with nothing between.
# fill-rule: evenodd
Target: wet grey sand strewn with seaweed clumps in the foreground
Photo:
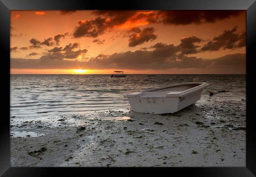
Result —
<instances>
[{"instance_id":1,"label":"wet grey sand strewn with seaweed clumps in the foreground","mask_svg":"<svg viewBox=\"0 0 256 177\"><path fill-rule=\"evenodd\" d=\"M245 100L174 114L124 109L10 123L12 167L246 166Z\"/></svg>"}]
</instances>

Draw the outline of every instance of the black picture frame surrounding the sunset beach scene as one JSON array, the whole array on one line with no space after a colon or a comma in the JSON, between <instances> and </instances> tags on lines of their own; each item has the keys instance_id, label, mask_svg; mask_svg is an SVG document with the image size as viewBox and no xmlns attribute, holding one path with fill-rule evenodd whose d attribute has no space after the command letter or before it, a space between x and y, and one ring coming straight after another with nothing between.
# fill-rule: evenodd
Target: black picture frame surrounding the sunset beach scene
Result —
<instances>
[{"instance_id":1,"label":"black picture frame surrounding the sunset beach scene","mask_svg":"<svg viewBox=\"0 0 256 177\"><path fill-rule=\"evenodd\" d=\"M189 176L241 176L250 177L256 175L256 138L255 138L255 118L253 115L254 73L256 56L256 2L255 0L129 0L124 2L98 2L95 0L0 0L0 47L2 49L2 89L4 100L2 101L2 111L0 128L0 175L2 176L51 176L54 173L58 176L66 176L75 173L89 174L89 171L98 173L98 168L12 168L10 167L10 134L9 118L10 112L10 10L79 10L79 9L165 9L165 10L246 10L246 167L195 167L195 168L101 168L114 170L119 175L132 174L138 170L147 172L159 170L168 171L169 174L178 173L179 176L189 174ZM135 170L135 171L134 171ZM97 172L98 171L98 172Z\"/></svg>"}]
</instances>

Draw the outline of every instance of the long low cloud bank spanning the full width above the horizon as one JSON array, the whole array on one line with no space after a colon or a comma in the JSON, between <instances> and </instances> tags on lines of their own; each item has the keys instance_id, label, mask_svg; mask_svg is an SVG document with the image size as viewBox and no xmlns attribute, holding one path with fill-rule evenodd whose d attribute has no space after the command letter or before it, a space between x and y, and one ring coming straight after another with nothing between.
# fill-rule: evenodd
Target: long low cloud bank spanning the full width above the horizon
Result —
<instances>
[{"instance_id":1,"label":"long low cloud bank spanning the full width above the horizon","mask_svg":"<svg viewBox=\"0 0 256 177\"><path fill-rule=\"evenodd\" d=\"M11 68L27 69L76 69L83 66L84 69L133 69L133 70L164 70L171 68L226 68L239 69L245 72L245 53L224 55L215 59L202 59L197 57L161 57L152 59L149 51L135 51L114 53L112 55L98 55L87 62L60 60L59 57L50 56L51 59L11 59ZM56 58L54 58L56 57ZM133 62L135 62L133 64Z\"/></svg>"}]
</instances>

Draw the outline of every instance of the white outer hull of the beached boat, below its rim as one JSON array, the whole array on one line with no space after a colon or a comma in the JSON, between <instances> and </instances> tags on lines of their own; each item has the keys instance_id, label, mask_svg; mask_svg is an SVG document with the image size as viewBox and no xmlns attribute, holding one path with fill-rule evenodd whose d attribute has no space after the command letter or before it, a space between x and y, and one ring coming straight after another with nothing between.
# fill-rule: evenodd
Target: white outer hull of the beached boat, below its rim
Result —
<instances>
[{"instance_id":1,"label":"white outer hull of the beached boat, below its rim","mask_svg":"<svg viewBox=\"0 0 256 177\"><path fill-rule=\"evenodd\" d=\"M130 97L132 111L150 114L174 113L195 103L201 98L202 90L184 97Z\"/></svg>"}]
</instances>

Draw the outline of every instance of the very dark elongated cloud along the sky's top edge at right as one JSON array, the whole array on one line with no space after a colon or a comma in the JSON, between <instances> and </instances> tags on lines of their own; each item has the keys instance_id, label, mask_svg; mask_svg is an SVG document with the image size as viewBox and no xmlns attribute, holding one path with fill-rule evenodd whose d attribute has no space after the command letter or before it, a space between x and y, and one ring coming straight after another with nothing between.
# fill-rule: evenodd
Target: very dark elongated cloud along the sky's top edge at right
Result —
<instances>
[{"instance_id":1,"label":"very dark elongated cloud along the sky's top edge at right","mask_svg":"<svg viewBox=\"0 0 256 177\"><path fill-rule=\"evenodd\" d=\"M219 20L224 20L230 17L236 17L243 11L240 10L164 10L159 11L159 22L164 24L174 25L189 25L189 24L201 24L201 23L214 23Z\"/></svg>"}]
</instances>

